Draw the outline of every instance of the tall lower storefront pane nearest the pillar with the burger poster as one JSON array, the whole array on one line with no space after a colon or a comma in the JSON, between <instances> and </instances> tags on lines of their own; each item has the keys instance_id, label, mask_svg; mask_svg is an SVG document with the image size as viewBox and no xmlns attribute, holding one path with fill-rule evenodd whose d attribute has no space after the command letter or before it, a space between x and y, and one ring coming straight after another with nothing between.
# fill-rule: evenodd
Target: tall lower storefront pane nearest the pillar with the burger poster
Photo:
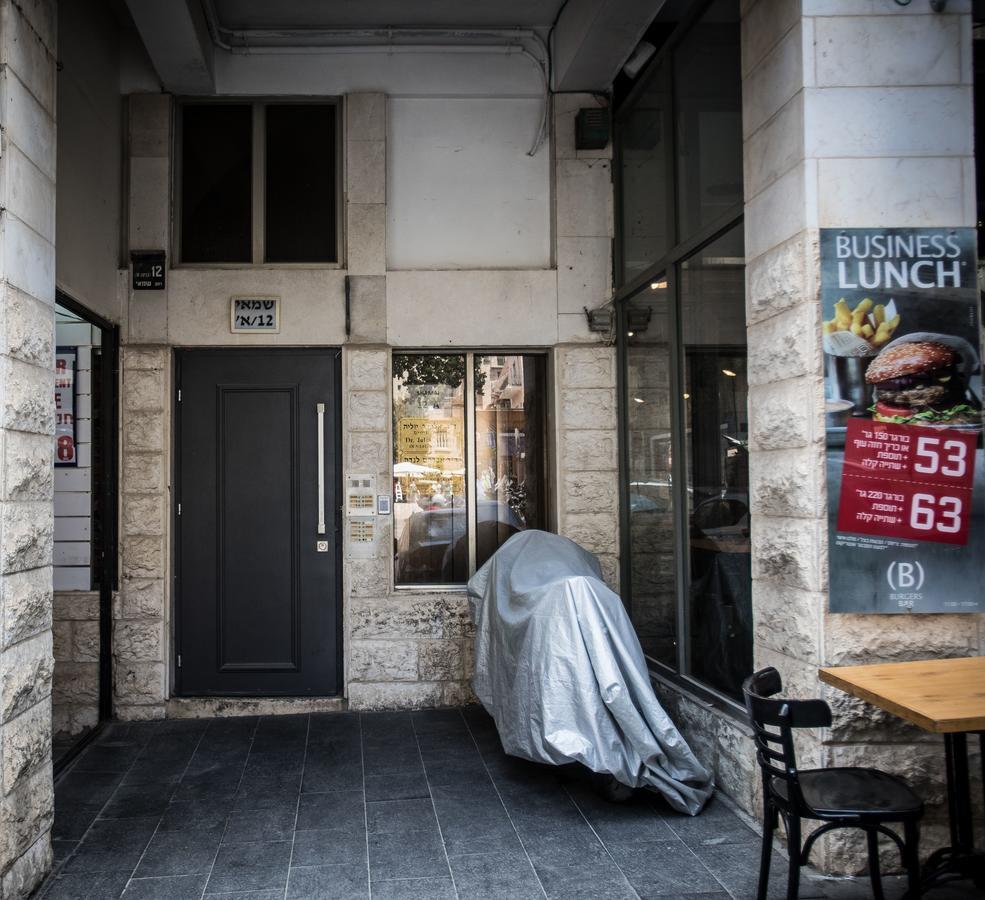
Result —
<instances>
[{"instance_id":1,"label":"tall lower storefront pane nearest the pillar with the burger poster","mask_svg":"<svg viewBox=\"0 0 985 900\"><path fill-rule=\"evenodd\" d=\"M752 671L741 225L681 266L688 478L688 671L739 698Z\"/></svg>"}]
</instances>

